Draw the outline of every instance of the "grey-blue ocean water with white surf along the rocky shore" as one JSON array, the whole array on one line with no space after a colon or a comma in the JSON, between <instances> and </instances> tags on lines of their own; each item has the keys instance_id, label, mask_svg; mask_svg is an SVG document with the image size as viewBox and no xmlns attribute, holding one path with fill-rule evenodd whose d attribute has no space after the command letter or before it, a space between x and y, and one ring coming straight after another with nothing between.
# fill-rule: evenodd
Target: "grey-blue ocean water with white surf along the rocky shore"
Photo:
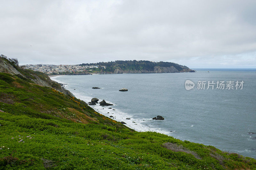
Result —
<instances>
[{"instance_id":1,"label":"grey-blue ocean water with white surf along the rocky shore","mask_svg":"<svg viewBox=\"0 0 256 170\"><path fill-rule=\"evenodd\" d=\"M96 97L114 104L112 109L99 104L92 108L126 122L137 131L156 131L256 158L256 134L248 134L256 133L256 69L195 70L195 73L98 74L52 79L67 84L65 88L85 102ZM194 82L195 87L186 90L186 80ZM205 89L197 89L198 81L206 81ZM233 85L230 90L216 89L215 84L212 90L207 89L208 81L235 81L235 84L244 81L244 84L243 89ZM123 87L128 91L119 92ZM164 120L152 120L157 115Z\"/></svg>"}]
</instances>

